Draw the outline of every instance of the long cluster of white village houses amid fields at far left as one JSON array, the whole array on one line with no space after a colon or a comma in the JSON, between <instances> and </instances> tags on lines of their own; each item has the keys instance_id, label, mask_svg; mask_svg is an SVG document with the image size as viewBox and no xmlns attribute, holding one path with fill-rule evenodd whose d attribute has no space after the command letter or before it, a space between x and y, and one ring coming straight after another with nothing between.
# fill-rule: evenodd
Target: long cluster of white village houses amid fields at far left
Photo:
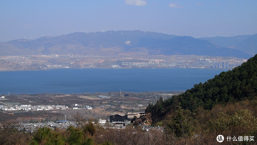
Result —
<instances>
[{"instance_id":1,"label":"long cluster of white village houses amid fields at far left","mask_svg":"<svg viewBox=\"0 0 257 145\"><path fill-rule=\"evenodd\" d=\"M15 105L15 107L8 107L5 105L0 105L0 109L4 111L9 110L24 110L24 111L30 111L30 110L53 110L53 109L67 109L68 106L65 105Z\"/></svg>"}]
</instances>

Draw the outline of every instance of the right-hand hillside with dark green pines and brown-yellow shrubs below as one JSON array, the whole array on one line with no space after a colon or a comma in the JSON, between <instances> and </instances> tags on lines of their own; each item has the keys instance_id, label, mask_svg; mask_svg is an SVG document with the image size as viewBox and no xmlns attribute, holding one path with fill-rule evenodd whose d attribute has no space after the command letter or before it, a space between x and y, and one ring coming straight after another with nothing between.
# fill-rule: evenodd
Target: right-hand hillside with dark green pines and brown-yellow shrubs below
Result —
<instances>
[{"instance_id":1,"label":"right-hand hillside with dark green pines and brown-yellow shrubs below","mask_svg":"<svg viewBox=\"0 0 257 145\"><path fill-rule=\"evenodd\" d=\"M164 126L177 137L256 136L256 93L257 55L233 70L195 84L185 93L165 101L160 98L154 105L149 104L145 113L151 115L152 125ZM140 121L144 117L134 124Z\"/></svg>"}]
</instances>

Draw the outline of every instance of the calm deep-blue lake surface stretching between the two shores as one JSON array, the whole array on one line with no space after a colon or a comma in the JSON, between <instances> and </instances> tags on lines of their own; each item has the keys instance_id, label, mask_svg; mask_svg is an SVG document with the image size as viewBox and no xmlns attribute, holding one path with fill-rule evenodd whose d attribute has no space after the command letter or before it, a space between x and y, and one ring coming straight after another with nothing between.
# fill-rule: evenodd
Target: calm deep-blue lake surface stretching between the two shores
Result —
<instances>
[{"instance_id":1,"label":"calm deep-blue lake surface stretching between the two shores","mask_svg":"<svg viewBox=\"0 0 257 145\"><path fill-rule=\"evenodd\" d=\"M224 69L51 69L0 72L0 94L180 91Z\"/></svg>"}]
</instances>

